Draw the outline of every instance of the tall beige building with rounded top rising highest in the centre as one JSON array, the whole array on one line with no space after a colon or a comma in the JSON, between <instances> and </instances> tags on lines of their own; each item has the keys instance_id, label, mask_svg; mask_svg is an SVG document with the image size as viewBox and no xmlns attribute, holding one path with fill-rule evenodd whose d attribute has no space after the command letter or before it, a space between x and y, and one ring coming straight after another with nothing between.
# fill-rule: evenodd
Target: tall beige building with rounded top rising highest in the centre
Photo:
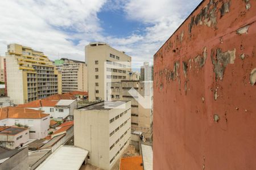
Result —
<instances>
[{"instance_id":1,"label":"tall beige building with rounded top rising highest in the centre","mask_svg":"<svg viewBox=\"0 0 256 170\"><path fill-rule=\"evenodd\" d=\"M108 100L106 84L128 79L131 57L104 42L85 46L85 63L88 66L89 101Z\"/></svg>"}]
</instances>

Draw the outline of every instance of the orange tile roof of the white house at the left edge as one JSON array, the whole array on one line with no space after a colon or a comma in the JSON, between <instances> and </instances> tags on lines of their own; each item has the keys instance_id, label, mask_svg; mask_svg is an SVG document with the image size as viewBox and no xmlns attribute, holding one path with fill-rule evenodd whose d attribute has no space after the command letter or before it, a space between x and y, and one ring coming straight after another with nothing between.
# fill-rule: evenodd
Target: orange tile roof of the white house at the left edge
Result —
<instances>
[{"instance_id":1,"label":"orange tile roof of the white house at the left edge","mask_svg":"<svg viewBox=\"0 0 256 170\"><path fill-rule=\"evenodd\" d=\"M46 116L49 116L49 114L35 109L17 107L0 108L0 120L5 118L43 118Z\"/></svg>"}]
</instances>

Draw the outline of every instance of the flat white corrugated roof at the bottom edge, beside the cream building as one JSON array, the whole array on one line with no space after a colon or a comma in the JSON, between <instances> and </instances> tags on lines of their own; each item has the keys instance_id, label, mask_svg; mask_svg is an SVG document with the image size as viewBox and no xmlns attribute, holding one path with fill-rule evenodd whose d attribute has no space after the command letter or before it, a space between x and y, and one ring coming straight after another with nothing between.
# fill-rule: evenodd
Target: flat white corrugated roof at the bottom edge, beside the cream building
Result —
<instances>
[{"instance_id":1,"label":"flat white corrugated roof at the bottom edge, beside the cream building","mask_svg":"<svg viewBox=\"0 0 256 170\"><path fill-rule=\"evenodd\" d=\"M73 169L79 170L88 151L75 146L60 146L36 169Z\"/></svg>"}]
</instances>

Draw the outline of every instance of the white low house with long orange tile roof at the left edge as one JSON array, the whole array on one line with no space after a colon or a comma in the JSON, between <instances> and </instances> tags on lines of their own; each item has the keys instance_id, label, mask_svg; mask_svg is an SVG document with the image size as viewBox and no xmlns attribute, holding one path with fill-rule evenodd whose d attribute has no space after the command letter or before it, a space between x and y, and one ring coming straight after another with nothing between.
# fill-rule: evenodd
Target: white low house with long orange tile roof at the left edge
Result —
<instances>
[{"instance_id":1,"label":"white low house with long orange tile roof at the left edge","mask_svg":"<svg viewBox=\"0 0 256 170\"><path fill-rule=\"evenodd\" d=\"M45 138L49 129L49 114L35 109L0 108L0 126L27 126L30 138Z\"/></svg>"}]
</instances>

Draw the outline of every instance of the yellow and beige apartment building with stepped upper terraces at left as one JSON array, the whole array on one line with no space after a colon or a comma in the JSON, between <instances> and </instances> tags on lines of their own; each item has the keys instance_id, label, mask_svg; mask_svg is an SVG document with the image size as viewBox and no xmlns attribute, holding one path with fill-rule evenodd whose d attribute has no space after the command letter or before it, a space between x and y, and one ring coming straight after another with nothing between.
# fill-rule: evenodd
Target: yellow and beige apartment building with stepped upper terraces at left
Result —
<instances>
[{"instance_id":1,"label":"yellow and beige apartment building with stepped upper terraces at left","mask_svg":"<svg viewBox=\"0 0 256 170\"><path fill-rule=\"evenodd\" d=\"M14 104L61 94L61 74L43 52L19 44L7 49L7 94Z\"/></svg>"}]
</instances>

